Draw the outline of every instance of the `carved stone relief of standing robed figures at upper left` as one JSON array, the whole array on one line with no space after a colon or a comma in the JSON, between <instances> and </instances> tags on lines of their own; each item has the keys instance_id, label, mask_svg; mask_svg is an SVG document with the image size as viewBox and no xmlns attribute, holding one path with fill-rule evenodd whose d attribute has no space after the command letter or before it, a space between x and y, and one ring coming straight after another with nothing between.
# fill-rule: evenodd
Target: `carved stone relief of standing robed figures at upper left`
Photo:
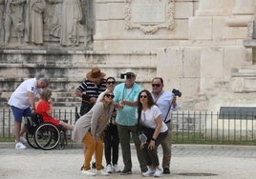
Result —
<instances>
[{"instance_id":1,"label":"carved stone relief of standing robed figures at upper left","mask_svg":"<svg viewBox=\"0 0 256 179\"><path fill-rule=\"evenodd\" d=\"M92 47L93 0L0 0L0 44ZM4 28L3 28L4 27Z\"/></svg>"}]
</instances>

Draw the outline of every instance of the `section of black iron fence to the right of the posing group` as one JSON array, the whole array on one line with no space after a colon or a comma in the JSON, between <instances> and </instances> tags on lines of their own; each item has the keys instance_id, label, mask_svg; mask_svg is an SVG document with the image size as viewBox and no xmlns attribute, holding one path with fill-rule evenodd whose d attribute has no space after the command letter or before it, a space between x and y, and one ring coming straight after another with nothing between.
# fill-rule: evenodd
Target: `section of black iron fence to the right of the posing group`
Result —
<instances>
[{"instance_id":1,"label":"section of black iron fence to the right of the posing group","mask_svg":"<svg viewBox=\"0 0 256 179\"><path fill-rule=\"evenodd\" d=\"M212 111L173 112L172 128L175 143L256 142L256 119L253 115Z\"/></svg>"}]
</instances>

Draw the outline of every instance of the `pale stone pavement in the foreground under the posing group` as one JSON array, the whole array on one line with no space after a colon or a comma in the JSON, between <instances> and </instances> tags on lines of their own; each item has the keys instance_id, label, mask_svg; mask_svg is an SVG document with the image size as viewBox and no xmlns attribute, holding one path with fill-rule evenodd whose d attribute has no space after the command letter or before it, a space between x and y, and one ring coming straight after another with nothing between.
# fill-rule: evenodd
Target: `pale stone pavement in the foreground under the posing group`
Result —
<instances>
[{"instance_id":1,"label":"pale stone pavement in the foreground under the posing group","mask_svg":"<svg viewBox=\"0 0 256 179\"><path fill-rule=\"evenodd\" d=\"M80 173L82 148L70 144L67 149L13 149L13 143L0 143L0 178L26 179L84 179ZM161 178L247 179L256 174L256 147L173 145L170 175ZM92 176L89 178L142 178L136 150L132 148L133 174ZM160 149L160 161L162 152ZM105 160L103 159L105 165ZM123 168L121 151L118 166ZM144 177L143 177L144 178Z\"/></svg>"}]
</instances>

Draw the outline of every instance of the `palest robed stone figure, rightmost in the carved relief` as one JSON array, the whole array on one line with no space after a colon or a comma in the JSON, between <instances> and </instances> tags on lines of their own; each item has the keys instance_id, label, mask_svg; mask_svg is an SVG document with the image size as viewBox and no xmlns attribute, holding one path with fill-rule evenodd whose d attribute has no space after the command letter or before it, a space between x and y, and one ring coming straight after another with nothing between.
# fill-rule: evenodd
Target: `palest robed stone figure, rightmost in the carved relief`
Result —
<instances>
[{"instance_id":1,"label":"palest robed stone figure, rightmost in the carved relief","mask_svg":"<svg viewBox=\"0 0 256 179\"><path fill-rule=\"evenodd\" d=\"M79 33L78 26L82 19L80 0L63 0L61 13L61 46L78 46Z\"/></svg>"}]
</instances>

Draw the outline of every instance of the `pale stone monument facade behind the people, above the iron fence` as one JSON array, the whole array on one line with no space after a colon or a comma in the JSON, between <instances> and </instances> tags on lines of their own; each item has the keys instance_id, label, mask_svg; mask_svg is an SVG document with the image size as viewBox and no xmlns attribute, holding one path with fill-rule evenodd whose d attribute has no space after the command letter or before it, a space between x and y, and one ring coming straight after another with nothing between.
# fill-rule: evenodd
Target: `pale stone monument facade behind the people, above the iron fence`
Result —
<instances>
[{"instance_id":1,"label":"pale stone monument facade behind the people, above the iron fence","mask_svg":"<svg viewBox=\"0 0 256 179\"><path fill-rule=\"evenodd\" d=\"M18 44L12 27L0 47L1 106L25 78L45 75L59 106L79 107L74 91L92 67L118 81L133 70L145 89L161 76L166 90L181 90L182 109L256 105L255 0L80 0L70 46L58 36L64 1L45 2L43 44Z\"/></svg>"}]
</instances>

